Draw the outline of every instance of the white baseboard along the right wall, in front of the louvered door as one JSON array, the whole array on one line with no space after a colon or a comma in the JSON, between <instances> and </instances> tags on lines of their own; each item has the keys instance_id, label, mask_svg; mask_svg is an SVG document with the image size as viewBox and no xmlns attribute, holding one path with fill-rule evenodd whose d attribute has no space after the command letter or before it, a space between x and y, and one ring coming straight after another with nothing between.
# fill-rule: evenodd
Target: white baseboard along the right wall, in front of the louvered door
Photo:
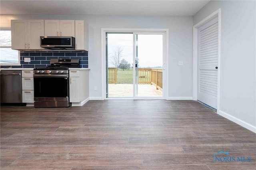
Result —
<instances>
[{"instance_id":1,"label":"white baseboard along the right wall, in front of the louvered door","mask_svg":"<svg viewBox=\"0 0 256 170\"><path fill-rule=\"evenodd\" d=\"M236 117L234 117L234 116L232 116L232 115L230 115L228 113L225 113L223 111L219 110L217 113L219 115L225 117L226 119L228 119L228 120L230 120L230 121L232 121L234 123L237 123L238 125L240 125L240 126L242 126L244 128L247 128L248 130L251 130L252 132L256 133L256 127L255 126L253 126L253 125L251 125L251 124L249 124L249 123L247 123L245 121L242 121L242 120L240 120L240 119L238 119L238 118L236 118Z\"/></svg>"}]
</instances>

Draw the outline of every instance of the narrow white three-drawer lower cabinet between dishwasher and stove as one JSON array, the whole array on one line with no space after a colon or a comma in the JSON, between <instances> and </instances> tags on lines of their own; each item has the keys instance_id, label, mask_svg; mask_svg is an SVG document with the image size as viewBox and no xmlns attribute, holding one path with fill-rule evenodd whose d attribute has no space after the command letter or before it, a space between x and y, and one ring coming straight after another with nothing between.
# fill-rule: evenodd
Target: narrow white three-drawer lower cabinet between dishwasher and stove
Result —
<instances>
[{"instance_id":1,"label":"narrow white three-drawer lower cabinet between dishwasher and stove","mask_svg":"<svg viewBox=\"0 0 256 170\"><path fill-rule=\"evenodd\" d=\"M34 103L33 70L22 70L22 103Z\"/></svg>"}]
</instances>

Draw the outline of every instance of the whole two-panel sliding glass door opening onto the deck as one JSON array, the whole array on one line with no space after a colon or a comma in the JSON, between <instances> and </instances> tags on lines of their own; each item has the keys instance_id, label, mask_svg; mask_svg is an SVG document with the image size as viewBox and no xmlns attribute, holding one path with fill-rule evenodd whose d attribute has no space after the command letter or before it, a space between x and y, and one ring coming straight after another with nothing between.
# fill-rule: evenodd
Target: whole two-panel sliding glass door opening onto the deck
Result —
<instances>
[{"instance_id":1,"label":"whole two-panel sliding glass door opening onto the deck","mask_svg":"<svg viewBox=\"0 0 256 170\"><path fill-rule=\"evenodd\" d=\"M163 33L106 33L106 98L163 98Z\"/></svg>"}]
</instances>

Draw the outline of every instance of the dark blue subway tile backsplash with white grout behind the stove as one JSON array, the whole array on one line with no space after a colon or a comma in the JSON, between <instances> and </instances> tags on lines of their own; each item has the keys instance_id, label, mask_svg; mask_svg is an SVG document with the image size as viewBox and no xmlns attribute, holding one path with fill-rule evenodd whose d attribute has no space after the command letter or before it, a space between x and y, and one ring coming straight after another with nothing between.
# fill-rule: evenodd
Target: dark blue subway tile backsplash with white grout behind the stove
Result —
<instances>
[{"instance_id":1,"label":"dark blue subway tile backsplash with white grout behind the stove","mask_svg":"<svg viewBox=\"0 0 256 170\"><path fill-rule=\"evenodd\" d=\"M24 62L24 57L29 57L30 62ZM20 65L13 65L13 68L36 68L47 67L50 65L50 59L79 59L80 68L88 68L88 52L83 51L20 51ZM1 66L9 68L10 66Z\"/></svg>"}]
</instances>

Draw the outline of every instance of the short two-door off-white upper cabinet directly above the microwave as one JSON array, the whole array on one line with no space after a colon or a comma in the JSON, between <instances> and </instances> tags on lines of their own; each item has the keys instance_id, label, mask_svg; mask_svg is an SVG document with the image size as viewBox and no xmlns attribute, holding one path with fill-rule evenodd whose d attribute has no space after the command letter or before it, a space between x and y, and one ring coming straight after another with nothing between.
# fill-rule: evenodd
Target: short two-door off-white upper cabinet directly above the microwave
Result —
<instances>
[{"instance_id":1,"label":"short two-door off-white upper cabinet directly above the microwave","mask_svg":"<svg viewBox=\"0 0 256 170\"><path fill-rule=\"evenodd\" d=\"M44 36L75 37L74 20L44 20Z\"/></svg>"}]
</instances>

